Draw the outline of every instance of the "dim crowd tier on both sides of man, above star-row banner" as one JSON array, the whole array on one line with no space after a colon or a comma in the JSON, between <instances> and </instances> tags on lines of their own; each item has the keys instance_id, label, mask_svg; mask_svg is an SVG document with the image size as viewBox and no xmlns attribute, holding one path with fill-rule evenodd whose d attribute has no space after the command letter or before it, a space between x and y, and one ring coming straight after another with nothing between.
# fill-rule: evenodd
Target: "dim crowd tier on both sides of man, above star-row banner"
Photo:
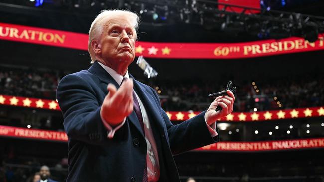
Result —
<instances>
[{"instance_id":1,"label":"dim crowd tier on both sides of man, above star-row banner","mask_svg":"<svg viewBox=\"0 0 324 182\"><path fill-rule=\"evenodd\" d=\"M0 94L56 99L56 88L64 74L53 70L0 67ZM294 75L290 78L233 80L237 86L234 110L238 112L312 107L324 104L323 75ZM145 83L145 81L144 81ZM162 108L173 111L202 111L222 91L223 80L155 80L149 85L160 96ZM278 104L279 103L279 104Z\"/></svg>"}]
</instances>

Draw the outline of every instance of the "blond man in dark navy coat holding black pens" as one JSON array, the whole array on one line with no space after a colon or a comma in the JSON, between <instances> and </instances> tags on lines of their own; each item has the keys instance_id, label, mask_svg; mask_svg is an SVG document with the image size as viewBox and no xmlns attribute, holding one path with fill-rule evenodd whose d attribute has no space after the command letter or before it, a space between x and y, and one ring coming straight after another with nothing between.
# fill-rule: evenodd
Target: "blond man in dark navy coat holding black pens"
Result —
<instances>
[{"instance_id":1,"label":"blond man in dark navy coat holding black pens","mask_svg":"<svg viewBox=\"0 0 324 182\"><path fill-rule=\"evenodd\" d=\"M58 85L68 182L179 182L173 155L217 142L215 121L233 110L227 91L207 111L173 125L156 92L128 73L137 26L134 13L102 11L89 31L93 65Z\"/></svg>"}]
</instances>

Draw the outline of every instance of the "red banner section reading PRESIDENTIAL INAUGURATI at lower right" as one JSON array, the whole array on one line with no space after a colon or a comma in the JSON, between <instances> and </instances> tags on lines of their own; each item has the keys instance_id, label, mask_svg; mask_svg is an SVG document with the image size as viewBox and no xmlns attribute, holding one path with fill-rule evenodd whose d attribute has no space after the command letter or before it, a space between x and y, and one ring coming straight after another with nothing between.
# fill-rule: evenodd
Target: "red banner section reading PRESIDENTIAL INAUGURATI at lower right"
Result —
<instances>
[{"instance_id":1,"label":"red banner section reading PRESIDENTIAL INAUGURATI at lower right","mask_svg":"<svg viewBox=\"0 0 324 182\"><path fill-rule=\"evenodd\" d=\"M198 151L273 151L286 149L323 148L324 138L278 140L264 142L218 142Z\"/></svg>"}]
</instances>

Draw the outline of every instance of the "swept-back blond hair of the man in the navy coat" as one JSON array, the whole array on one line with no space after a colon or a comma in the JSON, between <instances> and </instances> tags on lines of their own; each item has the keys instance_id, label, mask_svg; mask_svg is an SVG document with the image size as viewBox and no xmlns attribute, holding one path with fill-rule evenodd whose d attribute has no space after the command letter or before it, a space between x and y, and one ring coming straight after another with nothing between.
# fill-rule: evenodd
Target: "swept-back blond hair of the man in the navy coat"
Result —
<instances>
[{"instance_id":1,"label":"swept-back blond hair of the man in the navy coat","mask_svg":"<svg viewBox=\"0 0 324 182\"><path fill-rule=\"evenodd\" d=\"M106 22L113 17L125 16L130 21L132 27L136 30L139 25L139 17L137 14L128 10L102 10L100 14L93 20L90 30L89 30L89 41L88 41L88 51L91 57L91 63L96 60L95 52L91 47L92 40L99 40ZM136 38L136 37L135 37Z\"/></svg>"}]
</instances>

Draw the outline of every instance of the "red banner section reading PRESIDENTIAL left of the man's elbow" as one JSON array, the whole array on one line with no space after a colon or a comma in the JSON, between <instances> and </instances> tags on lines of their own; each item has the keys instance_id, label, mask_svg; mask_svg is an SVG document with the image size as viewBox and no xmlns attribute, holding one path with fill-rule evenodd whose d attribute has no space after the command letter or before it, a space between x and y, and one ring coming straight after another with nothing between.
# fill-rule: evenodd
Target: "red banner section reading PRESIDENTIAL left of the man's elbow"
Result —
<instances>
[{"instance_id":1,"label":"red banner section reading PRESIDENTIAL left of the man's elbow","mask_svg":"<svg viewBox=\"0 0 324 182\"><path fill-rule=\"evenodd\" d=\"M67 142L65 132L18 128L0 125L0 136Z\"/></svg>"}]
</instances>

